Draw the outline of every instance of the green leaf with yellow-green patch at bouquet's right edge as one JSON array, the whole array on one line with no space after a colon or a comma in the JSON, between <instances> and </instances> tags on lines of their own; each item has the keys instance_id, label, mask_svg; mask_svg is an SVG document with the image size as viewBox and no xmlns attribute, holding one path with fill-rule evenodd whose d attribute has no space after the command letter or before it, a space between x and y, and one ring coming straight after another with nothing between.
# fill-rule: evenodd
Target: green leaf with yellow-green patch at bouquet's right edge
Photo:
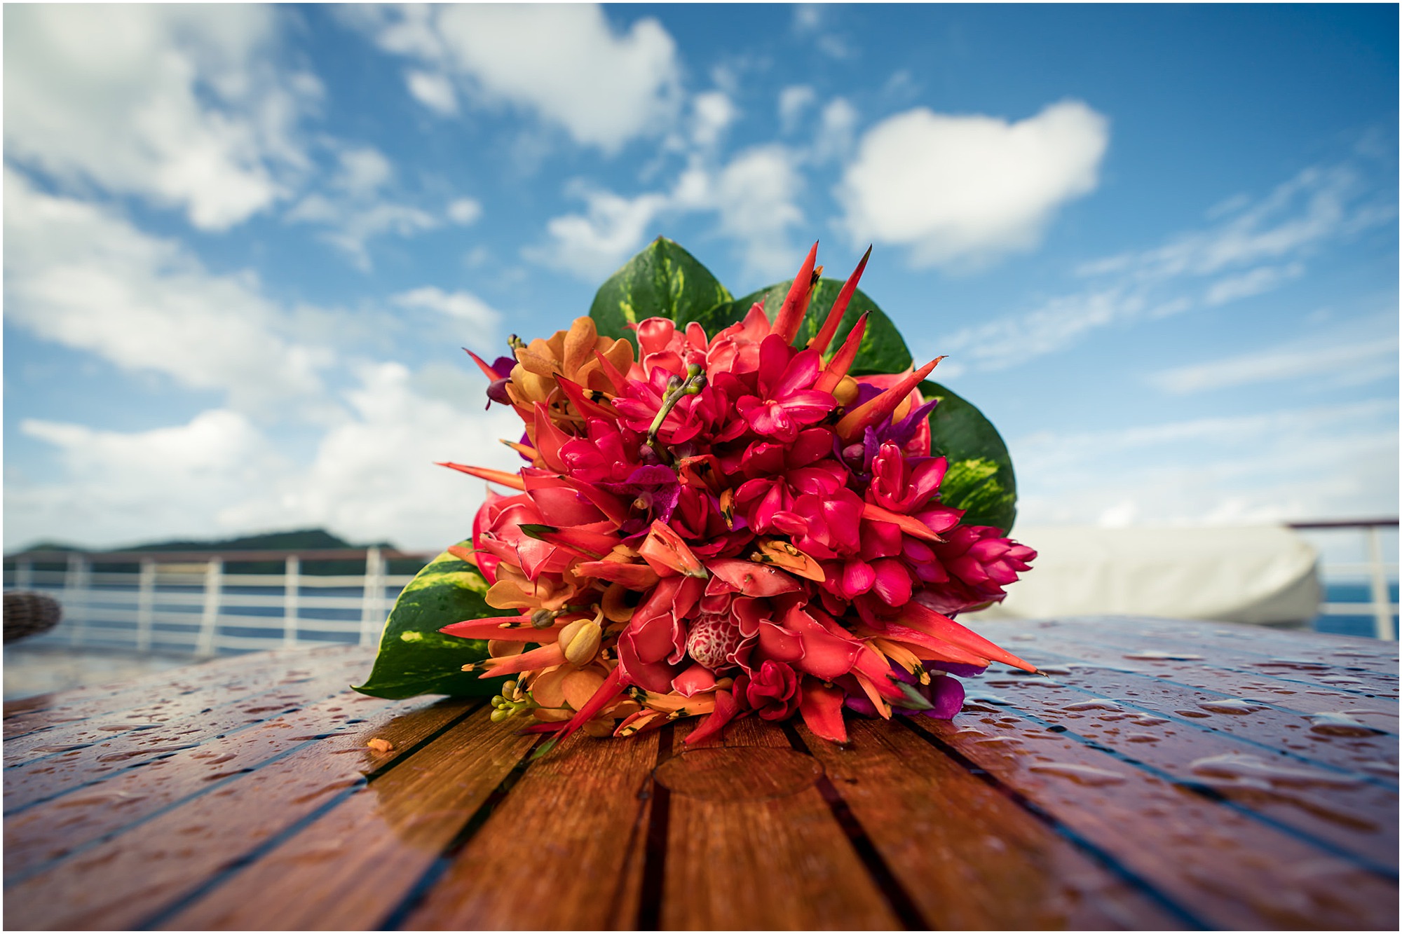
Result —
<instances>
[{"instance_id":1,"label":"green leaf with yellow-green patch at bouquet's right edge","mask_svg":"<svg viewBox=\"0 0 1402 934\"><path fill-rule=\"evenodd\" d=\"M930 414L930 436L931 452L949 459L941 501L966 510L965 524L994 526L1007 534L1018 517L1018 484L998 429L939 383L921 383L920 391L927 400L939 400Z\"/></svg>"}]
</instances>

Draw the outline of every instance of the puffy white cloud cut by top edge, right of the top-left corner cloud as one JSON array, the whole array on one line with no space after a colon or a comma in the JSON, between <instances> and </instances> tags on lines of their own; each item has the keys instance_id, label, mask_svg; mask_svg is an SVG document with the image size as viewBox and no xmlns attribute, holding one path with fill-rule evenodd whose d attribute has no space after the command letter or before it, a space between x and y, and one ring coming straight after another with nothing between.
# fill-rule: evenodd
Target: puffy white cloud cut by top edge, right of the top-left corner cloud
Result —
<instances>
[{"instance_id":1,"label":"puffy white cloud cut by top edge, right of the top-left corner cloud","mask_svg":"<svg viewBox=\"0 0 1402 934\"><path fill-rule=\"evenodd\" d=\"M680 104L676 43L653 18L627 31L593 4L379 7L343 14L390 52L416 59L411 93L439 111L447 81L468 100L506 104L615 153L658 135Z\"/></svg>"}]
</instances>

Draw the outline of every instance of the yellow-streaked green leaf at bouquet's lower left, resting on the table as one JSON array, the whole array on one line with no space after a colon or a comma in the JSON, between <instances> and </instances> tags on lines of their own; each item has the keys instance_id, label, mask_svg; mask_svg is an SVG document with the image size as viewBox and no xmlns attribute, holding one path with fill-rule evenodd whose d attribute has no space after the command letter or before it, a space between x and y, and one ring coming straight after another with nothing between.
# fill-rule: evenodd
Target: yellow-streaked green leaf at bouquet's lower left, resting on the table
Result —
<instances>
[{"instance_id":1,"label":"yellow-streaked green leaf at bouquet's lower left, resting on the table","mask_svg":"<svg viewBox=\"0 0 1402 934\"><path fill-rule=\"evenodd\" d=\"M471 548L471 541L460 543ZM486 581L467 561L447 551L433 558L400 593L380 637L380 654L365 684L355 690L374 697L451 694L491 697L502 679L478 679L463 670L486 658L486 639L463 639L439 630L463 620L498 616L486 606Z\"/></svg>"}]
</instances>

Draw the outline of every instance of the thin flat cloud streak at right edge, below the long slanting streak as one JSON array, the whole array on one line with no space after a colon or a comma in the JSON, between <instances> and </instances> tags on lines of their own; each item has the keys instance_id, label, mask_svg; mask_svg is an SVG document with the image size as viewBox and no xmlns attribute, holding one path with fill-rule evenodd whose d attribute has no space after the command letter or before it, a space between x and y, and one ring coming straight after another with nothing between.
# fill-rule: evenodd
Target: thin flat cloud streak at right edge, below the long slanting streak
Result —
<instances>
[{"instance_id":1,"label":"thin flat cloud streak at right edge, below the long slanting streak","mask_svg":"<svg viewBox=\"0 0 1402 934\"><path fill-rule=\"evenodd\" d=\"M1280 380L1328 386L1361 386L1388 377L1395 380L1396 318L1378 324L1382 332L1363 341L1332 345L1318 339L1291 341L1252 353L1162 370L1148 379L1151 384L1176 395Z\"/></svg>"}]
</instances>

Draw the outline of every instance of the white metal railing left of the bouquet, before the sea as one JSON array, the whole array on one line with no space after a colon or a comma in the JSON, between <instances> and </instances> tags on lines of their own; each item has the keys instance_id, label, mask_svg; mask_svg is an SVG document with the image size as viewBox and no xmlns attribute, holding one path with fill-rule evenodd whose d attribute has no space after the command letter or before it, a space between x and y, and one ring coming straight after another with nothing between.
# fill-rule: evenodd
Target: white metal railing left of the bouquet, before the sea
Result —
<instances>
[{"instance_id":1,"label":"white metal railing left of the bouquet, before the sea","mask_svg":"<svg viewBox=\"0 0 1402 934\"><path fill-rule=\"evenodd\" d=\"M391 575L390 561L423 564L430 557L381 548L25 553L6 558L4 586L63 604L63 621L27 645L209 658L307 644L373 645L412 579ZM240 572L240 565L269 561L282 564L282 574ZM328 561L365 567L318 574L317 565L324 569Z\"/></svg>"}]
</instances>

